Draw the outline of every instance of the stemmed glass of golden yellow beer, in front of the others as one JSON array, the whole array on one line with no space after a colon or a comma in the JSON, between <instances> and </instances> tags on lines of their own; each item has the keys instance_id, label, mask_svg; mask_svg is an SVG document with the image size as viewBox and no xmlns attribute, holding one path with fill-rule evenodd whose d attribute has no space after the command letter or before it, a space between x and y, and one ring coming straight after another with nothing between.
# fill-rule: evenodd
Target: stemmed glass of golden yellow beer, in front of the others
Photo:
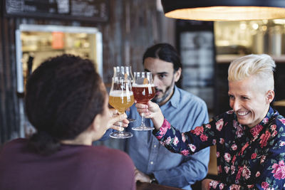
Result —
<instances>
[{"instance_id":1,"label":"stemmed glass of golden yellow beer, in front of the others","mask_svg":"<svg viewBox=\"0 0 285 190\"><path fill-rule=\"evenodd\" d=\"M128 78L114 77L112 78L112 87L109 93L109 104L113 106L120 114L123 114L128 107L134 103L132 85ZM115 139L125 139L133 137L131 132L124 132L122 122L120 122L120 131L113 132L110 137Z\"/></svg>"}]
</instances>

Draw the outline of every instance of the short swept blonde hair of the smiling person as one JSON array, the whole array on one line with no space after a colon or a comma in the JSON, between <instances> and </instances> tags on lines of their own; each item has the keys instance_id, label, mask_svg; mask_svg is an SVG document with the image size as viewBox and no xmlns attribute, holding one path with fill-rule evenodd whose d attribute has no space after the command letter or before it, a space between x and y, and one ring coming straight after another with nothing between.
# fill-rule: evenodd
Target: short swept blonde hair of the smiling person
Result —
<instances>
[{"instance_id":1,"label":"short swept blonde hair of the smiling person","mask_svg":"<svg viewBox=\"0 0 285 190\"><path fill-rule=\"evenodd\" d=\"M248 55L233 60L229 65L228 80L238 81L257 76L261 80L264 90L274 90L274 60L266 54Z\"/></svg>"}]
</instances>

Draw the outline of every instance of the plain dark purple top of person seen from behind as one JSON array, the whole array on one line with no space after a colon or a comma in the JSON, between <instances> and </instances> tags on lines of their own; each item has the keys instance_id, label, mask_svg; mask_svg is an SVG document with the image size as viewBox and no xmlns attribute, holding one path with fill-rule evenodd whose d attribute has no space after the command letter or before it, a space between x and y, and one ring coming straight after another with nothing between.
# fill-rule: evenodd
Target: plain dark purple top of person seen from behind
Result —
<instances>
[{"instance_id":1,"label":"plain dark purple top of person seen from behind","mask_svg":"<svg viewBox=\"0 0 285 190\"><path fill-rule=\"evenodd\" d=\"M50 156L15 139L0 152L0 189L135 189L134 164L117 149L62 145Z\"/></svg>"}]
</instances>

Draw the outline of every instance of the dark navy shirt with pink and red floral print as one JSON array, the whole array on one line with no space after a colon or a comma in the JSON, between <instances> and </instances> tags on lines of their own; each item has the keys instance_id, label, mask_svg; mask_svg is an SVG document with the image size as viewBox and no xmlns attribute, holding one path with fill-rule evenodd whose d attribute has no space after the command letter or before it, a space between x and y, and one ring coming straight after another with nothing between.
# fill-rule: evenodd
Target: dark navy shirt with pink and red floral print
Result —
<instances>
[{"instance_id":1,"label":"dark navy shirt with pink and red floral print","mask_svg":"<svg viewBox=\"0 0 285 190\"><path fill-rule=\"evenodd\" d=\"M190 132L165 120L154 134L185 156L216 144L219 181L211 181L209 189L285 189L285 119L271 107L252 128L239 124L230 110Z\"/></svg>"}]
</instances>

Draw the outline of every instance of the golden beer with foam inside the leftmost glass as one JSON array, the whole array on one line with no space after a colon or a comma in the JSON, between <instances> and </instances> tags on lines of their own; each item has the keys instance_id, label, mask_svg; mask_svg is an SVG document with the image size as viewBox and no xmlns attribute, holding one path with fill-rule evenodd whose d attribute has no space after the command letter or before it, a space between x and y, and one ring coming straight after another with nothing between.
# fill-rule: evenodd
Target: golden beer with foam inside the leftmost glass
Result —
<instances>
[{"instance_id":1,"label":"golden beer with foam inside the leftmost glass","mask_svg":"<svg viewBox=\"0 0 285 190\"><path fill-rule=\"evenodd\" d=\"M114 90L109 94L109 104L120 113L125 112L125 110L132 106L134 102L134 95L132 91L122 92L122 90Z\"/></svg>"}]
</instances>

